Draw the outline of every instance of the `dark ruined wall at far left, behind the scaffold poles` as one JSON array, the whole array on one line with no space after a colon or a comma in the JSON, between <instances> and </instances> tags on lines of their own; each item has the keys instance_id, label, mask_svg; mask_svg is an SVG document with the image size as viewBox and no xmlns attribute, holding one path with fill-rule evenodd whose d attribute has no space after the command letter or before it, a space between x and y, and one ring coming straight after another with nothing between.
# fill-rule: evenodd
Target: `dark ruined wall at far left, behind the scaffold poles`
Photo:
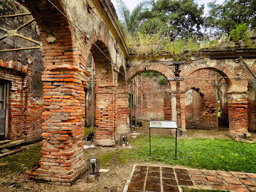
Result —
<instances>
[{"instance_id":1,"label":"dark ruined wall at far left, behind the scaffold poles","mask_svg":"<svg viewBox=\"0 0 256 192\"><path fill-rule=\"evenodd\" d=\"M28 9L15 1L3 1L3 6L0 7L0 13L4 15L28 12ZM26 23L30 19L32 19L31 15L11 18L12 21L20 24ZM18 25L6 19L1 19L0 24L8 29L18 28ZM28 24L26 28L38 33L35 22ZM20 29L18 33L40 41L39 36L28 33L25 29ZM29 45L32 45L29 41L15 36L0 41L0 47L3 50ZM43 53L41 50L2 52L0 53L0 63L0 80L7 80L9 83L8 135L6 139L38 141L41 139L42 132L43 83L40 71L43 70ZM28 68L33 68L36 71Z\"/></svg>"}]
</instances>

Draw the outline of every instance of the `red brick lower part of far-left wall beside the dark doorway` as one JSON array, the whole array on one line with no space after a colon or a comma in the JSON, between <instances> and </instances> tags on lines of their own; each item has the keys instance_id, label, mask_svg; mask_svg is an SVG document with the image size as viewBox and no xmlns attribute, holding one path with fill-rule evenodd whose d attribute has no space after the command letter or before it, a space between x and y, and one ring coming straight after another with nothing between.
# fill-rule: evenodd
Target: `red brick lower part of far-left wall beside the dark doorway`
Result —
<instances>
[{"instance_id":1,"label":"red brick lower part of far-left wall beside the dark doorway","mask_svg":"<svg viewBox=\"0 0 256 192\"><path fill-rule=\"evenodd\" d=\"M0 79L9 82L8 136L6 139L24 139L26 142L41 138L42 100L31 97L27 66L19 62L0 61ZM13 64L11 64L13 63ZM9 68L10 67L10 68ZM19 72L19 70L23 72ZM29 72L31 73L31 72Z\"/></svg>"}]
</instances>

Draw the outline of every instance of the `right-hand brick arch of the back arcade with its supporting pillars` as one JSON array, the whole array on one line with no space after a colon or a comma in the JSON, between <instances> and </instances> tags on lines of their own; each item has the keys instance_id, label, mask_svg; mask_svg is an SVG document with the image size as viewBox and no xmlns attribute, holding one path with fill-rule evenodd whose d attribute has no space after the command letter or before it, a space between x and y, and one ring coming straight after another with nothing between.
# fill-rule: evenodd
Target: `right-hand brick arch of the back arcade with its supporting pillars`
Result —
<instances>
[{"instance_id":1,"label":"right-hand brick arch of the back arcade with its supporting pillars","mask_svg":"<svg viewBox=\"0 0 256 192\"><path fill-rule=\"evenodd\" d=\"M230 135L241 136L242 132L248 132L248 93L245 92L247 90L248 81L250 80L251 75L248 71L244 70L244 73L239 75L239 78L237 78L236 70L240 70L241 68L235 68L233 65L227 65L225 61L196 61L187 65L183 65L179 75L186 79L193 72L203 68L208 68L210 70L215 70L224 77L228 77L226 78L226 85L228 95L230 95L228 96L228 119L230 125ZM181 127L184 128L186 127L186 109L183 104L183 98L185 97L184 93L186 92L185 82L180 82L180 89Z\"/></svg>"}]
</instances>

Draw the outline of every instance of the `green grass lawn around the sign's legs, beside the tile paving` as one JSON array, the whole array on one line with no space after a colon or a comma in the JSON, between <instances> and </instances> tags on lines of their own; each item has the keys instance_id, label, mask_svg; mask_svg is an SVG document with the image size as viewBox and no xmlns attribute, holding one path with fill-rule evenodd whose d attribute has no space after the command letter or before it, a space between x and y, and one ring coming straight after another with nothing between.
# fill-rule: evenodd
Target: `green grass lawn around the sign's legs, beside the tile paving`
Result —
<instances>
[{"instance_id":1,"label":"green grass lawn around the sign's legs, beside the tile paving","mask_svg":"<svg viewBox=\"0 0 256 192\"><path fill-rule=\"evenodd\" d=\"M149 137L144 136L132 141L134 148L125 150L120 161L160 161L196 169L256 173L256 144L229 139L179 139L178 159L174 160L174 137L152 136L151 141L151 157Z\"/></svg>"}]
</instances>

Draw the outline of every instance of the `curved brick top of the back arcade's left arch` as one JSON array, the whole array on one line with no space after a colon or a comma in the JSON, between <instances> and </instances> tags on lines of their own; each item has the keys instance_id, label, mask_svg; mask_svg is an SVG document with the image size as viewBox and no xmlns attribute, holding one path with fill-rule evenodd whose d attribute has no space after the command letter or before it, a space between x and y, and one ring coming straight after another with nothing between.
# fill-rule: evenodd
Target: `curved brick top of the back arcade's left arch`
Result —
<instances>
[{"instance_id":1,"label":"curved brick top of the back arcade's left arch","mask_svg":"<svg viewBox=\"0 0 256 192\"><path fill-rule=\"evenodd\" d=\"M166 78L175 77L173 71L170 68L168 68L167 65L152 63L152 62L149 62L149 63L145 62L145 63L141 63L140 65L132 65L132 67L127 70L127 79L131 80L139 73L145 72L145 69L148 72L149 71L159 72L162 75L164 75L164 77Z\"/></svg>"}]
</instances>

